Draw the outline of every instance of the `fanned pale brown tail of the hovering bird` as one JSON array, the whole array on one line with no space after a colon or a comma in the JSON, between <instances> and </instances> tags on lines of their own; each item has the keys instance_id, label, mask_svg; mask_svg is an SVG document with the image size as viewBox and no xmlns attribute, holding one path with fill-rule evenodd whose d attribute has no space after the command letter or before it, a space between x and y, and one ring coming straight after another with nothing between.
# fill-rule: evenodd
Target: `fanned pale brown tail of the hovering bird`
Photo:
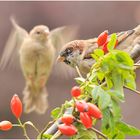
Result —
<instances>
[{"instance_id":1,"label":"fanned pale brown tail of the hovering bird","mask_svg":"<svg viewBox=\"0 0 140 140\"><path fill-rule=\"evenodd\" d=\"M26 85L24 91L24 110L26 113L36 111L39 114L45 113L48 108L47 90L46 88L38 88L31 85Z\"/></svg>"}]
</instances>

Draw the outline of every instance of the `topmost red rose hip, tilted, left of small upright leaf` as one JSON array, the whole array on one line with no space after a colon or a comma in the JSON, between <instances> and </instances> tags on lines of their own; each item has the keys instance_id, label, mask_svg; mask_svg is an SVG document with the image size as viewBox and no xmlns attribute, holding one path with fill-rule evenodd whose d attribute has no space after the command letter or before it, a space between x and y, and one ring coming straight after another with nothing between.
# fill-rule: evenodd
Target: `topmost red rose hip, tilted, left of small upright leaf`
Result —
<instances>
[{"instance_id":1,"label":"topmost red rose hip, tilted, left of small upright leaf","mask_svg":"<svg viewBox=\"0 0 140 140\"><path fill-rule=\"evenodd\" d=\"M102 32L98 36L97 44L98 44L99 47L104 45L104 43L107 41L107 37L108 37L108 31L107 30Z\"/></svg>"}]
</instances>

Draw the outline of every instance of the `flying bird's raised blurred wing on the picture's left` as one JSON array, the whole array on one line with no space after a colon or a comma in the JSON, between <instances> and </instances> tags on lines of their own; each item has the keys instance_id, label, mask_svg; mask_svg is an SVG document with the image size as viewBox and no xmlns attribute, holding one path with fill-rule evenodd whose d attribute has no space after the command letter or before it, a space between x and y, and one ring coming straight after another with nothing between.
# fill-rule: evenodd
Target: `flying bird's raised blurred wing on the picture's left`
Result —
<instances>
[{"instance_id":1,"label":"flying bird's raised blurred wing on the picture's left","mask_svg":"<svg viewBox=\"0 0 140 140\"><path fill-rule=\"evenodd\" d=\"M14 18L11 18L13 29L6 42L1 60L0 69L4 69L6 66L14 66L19 63L19 49L23 40L28 36L25 29L20 27Z\"/></svg>"}]
</instances>

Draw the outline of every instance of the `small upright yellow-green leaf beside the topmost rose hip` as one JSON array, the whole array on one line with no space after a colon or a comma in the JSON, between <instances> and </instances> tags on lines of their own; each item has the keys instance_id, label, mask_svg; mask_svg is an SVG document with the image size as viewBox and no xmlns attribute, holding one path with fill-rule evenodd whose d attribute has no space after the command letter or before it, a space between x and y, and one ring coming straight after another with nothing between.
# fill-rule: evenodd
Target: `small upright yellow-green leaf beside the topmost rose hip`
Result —
<instances>
[{"instance_id":1,"label":"small upright yellow-green leaf beside the topmost rose hip","mask_svg":"<svg viewBox=\"0 0 140 140\"><path fill-rule=\"evenodd\" d=\"M114 46L116 44L116 40L117 40L117 35L116 35L116 33L113 33L111 35L111 39L110 39L109 43L107 44L107 48L109 51L112 51L114 49Z\"/></svg>"}]
</instances>

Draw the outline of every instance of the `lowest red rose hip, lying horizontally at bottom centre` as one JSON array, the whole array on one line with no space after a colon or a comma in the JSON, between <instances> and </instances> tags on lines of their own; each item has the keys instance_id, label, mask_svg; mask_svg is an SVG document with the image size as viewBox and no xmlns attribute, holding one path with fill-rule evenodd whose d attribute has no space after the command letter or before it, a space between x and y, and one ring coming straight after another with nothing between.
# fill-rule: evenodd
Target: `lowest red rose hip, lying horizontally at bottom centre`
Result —
<instances>
[{"instance_id":1,"label":"lowest red rose hip, lying horizontally at bottom centre","mask_svg":"<svg viewBox=\"0 0 140 140\"><path fill-rule=\"evenodd\" d=\"M73 136L77 133L77 128L74 125L60 124L58 125L58 129L66 136Z\"/></svg>"}]
</instances>

